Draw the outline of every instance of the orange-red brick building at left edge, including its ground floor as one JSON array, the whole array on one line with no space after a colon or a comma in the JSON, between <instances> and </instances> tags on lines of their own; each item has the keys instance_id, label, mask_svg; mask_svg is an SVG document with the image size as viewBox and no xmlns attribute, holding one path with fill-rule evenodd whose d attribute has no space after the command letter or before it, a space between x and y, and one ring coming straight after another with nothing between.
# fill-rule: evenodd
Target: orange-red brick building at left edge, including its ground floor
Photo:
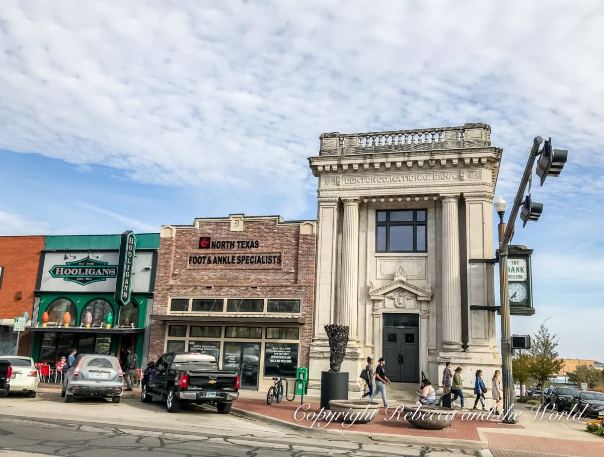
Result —
<instances>
[{"instance_id":1,"label":"orange-red brick building at left edge, including its ground floor","mask_svg":"<svg viewBox=\"0 0 604 457\"><path fill-rule=\"evenodd\" d=\"M43 236L0 236L0 354L14 354L14 318L31 318ZM27 355L29 332L21 332L19 355Z\"/></svg>"}]
</instances>

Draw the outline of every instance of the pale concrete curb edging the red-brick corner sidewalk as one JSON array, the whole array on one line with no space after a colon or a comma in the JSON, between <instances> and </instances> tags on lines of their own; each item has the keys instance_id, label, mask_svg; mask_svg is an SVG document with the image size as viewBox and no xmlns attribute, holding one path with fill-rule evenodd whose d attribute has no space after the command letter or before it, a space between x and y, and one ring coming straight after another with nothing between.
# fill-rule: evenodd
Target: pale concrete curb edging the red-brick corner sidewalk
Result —
<instances>
[{"instance_id":1,"label":"pale concrete curb edging the red-brick corner sidewalk","mask_svg":"<svg viewBox=\"0 0 604 457\"><path fill-rule=\"evenodd\" d=\"M235 403L233 404L235 405ZM265 416L257 412L247 411L245 409L233 408L231 411L237 412L241 417L252 420L272 422L284 428L295 432L306 432L312 435L320 435L321 437L332 437L333 433L344 435L348 438L356 438L355 441L372 441L373 443L396 443L404 445L419 445L419 446L435 446L442 449L465 449L465 450L483 450L489 445L486 441L475 440L456 440L455 438L432 438L432 437L417 437L415 435L394 435L392 433L365 433L357 432L356 430L334 430L334 429L318 429L305 427L294 424L288 421L277 419L274 417Z\"/></svg>"}]
</instances>

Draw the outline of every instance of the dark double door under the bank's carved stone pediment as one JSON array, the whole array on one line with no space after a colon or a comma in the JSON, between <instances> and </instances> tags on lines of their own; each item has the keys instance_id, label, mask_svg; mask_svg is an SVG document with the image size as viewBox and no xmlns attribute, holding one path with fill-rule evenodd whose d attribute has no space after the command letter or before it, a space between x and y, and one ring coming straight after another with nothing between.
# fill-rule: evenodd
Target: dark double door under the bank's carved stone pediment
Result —
<instances>
[{"instance_id":1,"label":"dark double door under the bank's carved stone pediment","mask_svg":"<svg viewBox=\"0 0 604 457\"><path fill-rule=\"evenodd\" d=\"M383 332L382 347L388 379L393 382L418 382L419 327L384 326Z\"/></svg>"}]
</instances>

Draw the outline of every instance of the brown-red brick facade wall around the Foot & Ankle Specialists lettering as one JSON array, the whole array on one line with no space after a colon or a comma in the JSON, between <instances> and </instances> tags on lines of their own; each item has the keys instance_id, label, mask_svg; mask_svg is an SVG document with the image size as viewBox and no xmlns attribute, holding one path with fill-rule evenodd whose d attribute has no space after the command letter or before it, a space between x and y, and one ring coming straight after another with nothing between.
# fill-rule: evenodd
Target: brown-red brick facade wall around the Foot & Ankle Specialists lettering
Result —
<instances>
[{"instance_id":1,"label":"brown-red brick facade wall around the Foot & Ankle Specialists lettering","mask_svg":"<svg viewBox=\"0 0 604 457\"><path fill-rule=\"evenodd\" d=\"M152 314L167 314L169 297L301 298L300 366L308 366L313 328L316 234L300 235L300 223L278 223L277 218L244 218L243 231L231 232L230 220L200 222L200 228L176 227L175 238L160 238ZM199 237L212 240L258 240L255 249L202 250ZM281 268L188 268L189 254L281 253ZM289 273L291 269L294 273ZM174 274L178 269L178 274ZM212 289L205 289L212 286ZM257 289L250 289L257 286ZM164 350L165 324L152 321L149 360Z\"/></svg>"}]
</instances>

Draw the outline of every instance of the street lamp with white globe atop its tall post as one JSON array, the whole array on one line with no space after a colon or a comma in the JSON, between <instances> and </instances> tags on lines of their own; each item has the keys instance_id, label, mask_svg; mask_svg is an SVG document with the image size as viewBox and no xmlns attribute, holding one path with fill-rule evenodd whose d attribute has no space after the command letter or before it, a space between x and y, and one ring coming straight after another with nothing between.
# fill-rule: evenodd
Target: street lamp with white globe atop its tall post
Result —
<instances>
[{"instance_id":1,"label":"street lamp with white globe atop its tall post","mask_svg":"<svg viewBox=\"0 0 604 457\"><path fill-rule=\"evenodd\" d=\"M510 323L510 303L507 300L507 245L503 245L506 223L503 217L506 214L507 203L501 195L497 198L495 211L499 215L499 284L501 301L501 371L503 377L503 411L505 412L503 422L514 424L513 416L514 397L512 394L512 324Z\"/></svg>"}]
</instances>

